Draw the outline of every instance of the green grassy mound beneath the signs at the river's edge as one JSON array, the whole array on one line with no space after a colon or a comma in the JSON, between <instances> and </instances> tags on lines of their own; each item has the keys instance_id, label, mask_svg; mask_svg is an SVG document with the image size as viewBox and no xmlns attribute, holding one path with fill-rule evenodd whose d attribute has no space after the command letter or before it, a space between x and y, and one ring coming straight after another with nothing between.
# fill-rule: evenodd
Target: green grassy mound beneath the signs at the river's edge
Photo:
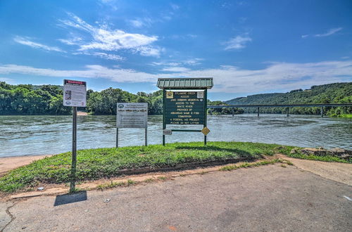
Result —
<instances>
[{"instance_id":1,"label":"green grassy mound beneath the signs at the river's edge","mask_svg":"<svg viewBox=\"0 0 352 232\"><path fill-rule=\"evenodd\" d=\"M259 158L275 153L289 154L293 147L265 143L209 142L172 143L125 148L98 148L77 151L77 181L117 176L122 169L174 167L178 164L227 160L236 157ZM39 183L70 181L71 153L61 153L19 167L0 178L0 191L14 192Z\"/></svg>"}]
</instances>

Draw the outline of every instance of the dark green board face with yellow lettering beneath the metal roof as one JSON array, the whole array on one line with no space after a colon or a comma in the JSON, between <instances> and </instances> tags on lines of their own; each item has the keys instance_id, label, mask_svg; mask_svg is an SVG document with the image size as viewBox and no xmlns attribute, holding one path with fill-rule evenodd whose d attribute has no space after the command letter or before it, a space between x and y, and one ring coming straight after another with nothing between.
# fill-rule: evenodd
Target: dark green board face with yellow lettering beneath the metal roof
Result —
<instances>
[{"instance_id":1,"label":"dark green board face with yellow lettering beneath the metal roof","mask_svg":"<svg viewBox=\"0 0 352 232\"><path fill-rule=\"evenodd\" d=\"M166 91L165 124L205 124L203 91Z\"/></svg>"}]
</instances>

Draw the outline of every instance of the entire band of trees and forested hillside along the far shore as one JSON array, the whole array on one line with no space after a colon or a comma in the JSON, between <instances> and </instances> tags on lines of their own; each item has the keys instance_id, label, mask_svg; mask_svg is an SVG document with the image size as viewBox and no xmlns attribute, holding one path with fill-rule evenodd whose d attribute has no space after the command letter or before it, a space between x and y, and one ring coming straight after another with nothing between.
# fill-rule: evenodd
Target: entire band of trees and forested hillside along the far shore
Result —
<instances>
[{"instance_id":1,"label":"entire band of trees and forested hillside along the far shore","mask_svg":"<svg viewBox=\"0 0 352 232\"><path fill-rule=\"evenodd\" d=\"M163 91L151 94L138 92L131 94L122 89L105 89L87 91L87 108L80 108L96 115L115 115L117 102L149 103L149 115L160 115L163 112ZM245 98L234 98L225 103L208 101L208 105L225 104L294 104L294 103L351 103L352 82L312 86L311 89L298 89L286 94L257 94ZM68 115L70 107L63 106L63 87L55 85L33 86L30 84L11 85L0 82L0 115ZM253 108L245 109L254 112ZM284 108L261 108L261 112L281 113ZM230 114L230 108L215 109L213 113ZM244 110L234 109L235 114ZM291 113L318 114L320 108L292 108ZM347 107L325 108L325 113L332 116L351 114Z\"/></svg>"}]
</instances>

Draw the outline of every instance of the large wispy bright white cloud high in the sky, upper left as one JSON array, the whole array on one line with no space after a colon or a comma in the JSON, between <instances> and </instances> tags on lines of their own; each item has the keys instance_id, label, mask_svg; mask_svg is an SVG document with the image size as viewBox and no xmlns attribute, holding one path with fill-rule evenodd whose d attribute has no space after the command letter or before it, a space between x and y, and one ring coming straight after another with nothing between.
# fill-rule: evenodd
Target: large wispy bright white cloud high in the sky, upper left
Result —
<instances>
[{"instance_id":1,"label":"large wispy bright white cloud high in the sky, upper left","mask_svg":"<svg viewBox=\"0 0 352 232\"><path fill-rule=\"evenodd\" d=\"M107 26L94 27L72 13L70 20L60 20L61 25L73 27L77 30L87 32L91 39L61 39L65 44L79 46L79 51L99 49L103 51L118 51L120 49L132 49L139 51L142 56L159 56L161 49L152 47L151 44L158 40L156 36L145 34L132 34L122 30L111 30Z\"/></svg>"}]
</instances>

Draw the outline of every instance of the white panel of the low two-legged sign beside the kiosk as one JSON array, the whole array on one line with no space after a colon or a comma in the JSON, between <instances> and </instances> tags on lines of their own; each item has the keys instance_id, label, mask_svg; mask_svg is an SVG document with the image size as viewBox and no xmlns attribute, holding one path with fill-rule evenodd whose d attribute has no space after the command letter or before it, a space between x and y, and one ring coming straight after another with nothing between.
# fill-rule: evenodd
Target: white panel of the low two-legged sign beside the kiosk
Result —
<instances>
[{"instance_id":1,"label":"white panel of the low two-legged sign beside the kiosk","mask_svg":"<svg viewBox=\"0 0 352 232\"><path fill-rule=\"evenodd\" d=\"M148 103L118 103L117 128L146 128L147 122Z\"/></svg>"}]
</instances>

